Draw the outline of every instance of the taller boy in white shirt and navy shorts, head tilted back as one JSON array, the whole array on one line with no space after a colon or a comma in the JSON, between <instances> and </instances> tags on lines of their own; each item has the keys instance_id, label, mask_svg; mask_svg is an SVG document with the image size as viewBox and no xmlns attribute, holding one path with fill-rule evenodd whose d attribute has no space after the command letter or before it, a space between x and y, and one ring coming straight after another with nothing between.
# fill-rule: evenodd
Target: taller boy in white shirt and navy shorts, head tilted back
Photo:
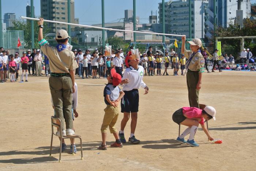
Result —
<instances>
[{"instance_id":1,"label":"taller boy in white shirt and navy shorts, head tilted back","mask_svg":"<svg viewBox=\"0 0 256 171\"><path fill-rule=\"evenodd\" d=\"M124 128L130 118L131 114L131 135L128 143L138 144L140 140L135 138L135 128L137 124L137 117L139 111L139 91L138 89L142 86L145 89L145 93L148 93L148 87L143 82L144 68L139 65L139 59L133 59L132 56L125 58L125 65L127 69L124 71L123 80L129 79L127 84L124 84L123 91L125 93L121 100L121 112L124 113L124 118L121 121L121 129L119 137L122 143L126 143L124 138ZM121 85L123 85L121 83Z\"/></svg>"}]
</instances>

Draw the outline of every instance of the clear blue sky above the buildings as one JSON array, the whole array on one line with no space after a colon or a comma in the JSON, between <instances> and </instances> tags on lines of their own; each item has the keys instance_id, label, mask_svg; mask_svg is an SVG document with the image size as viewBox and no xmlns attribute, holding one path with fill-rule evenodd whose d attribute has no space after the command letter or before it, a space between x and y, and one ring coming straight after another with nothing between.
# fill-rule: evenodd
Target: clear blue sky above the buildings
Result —
<instances>
[{"instance_id":1,"label":"clear blue sky above the buildings","mask_svg":"<svg viewBox=\"0 0 256 171\"><path fill-rule=\"evenodd\" d=\"M2 18L4 13L15 13L16 18L26 16L27 2L30 0L1 0ZM151 10L158 12L158 3L162 0L136 0L136 16L140 23L148 23ZM11 5L10 4L14 4ZM5 8L7 7L7 8ZM40 0L34 0L35 16L40 15ZM118 22L124 18L124 10L133 9L133 0L105 0L105 23ZM157 13L158 16L158 13ZM75 18L80 24L101 24L101 0L75 0Z\"/></svg>"}]
</instances>

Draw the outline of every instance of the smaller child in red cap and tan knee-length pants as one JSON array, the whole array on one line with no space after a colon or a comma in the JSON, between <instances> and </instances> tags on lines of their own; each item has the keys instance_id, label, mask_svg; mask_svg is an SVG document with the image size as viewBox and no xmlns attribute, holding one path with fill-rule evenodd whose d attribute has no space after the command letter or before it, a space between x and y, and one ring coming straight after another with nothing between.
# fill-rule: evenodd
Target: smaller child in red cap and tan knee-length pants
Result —
<instances>
[{"instance_id":1,"label":"smaller child in red cap and tan knee-length pants","mask_svg":"<svg viewBox=\"0 0 256 171\"><path fill-rule=\"evenodd\" d=\"M114 68L111 69L111 74L107 77L108 84L104 88L104 101L107 107L104 109L105 115L101 126L102 143L99 146L100 150L107 150L106 137L107 128L109 126L110 133L116 138L116 142L111 144L111 147L123 147L115 127L119 108L118 102L123 98L124 92L118 87L121 83L121 75Z\"/></svg>"}]
</instances>

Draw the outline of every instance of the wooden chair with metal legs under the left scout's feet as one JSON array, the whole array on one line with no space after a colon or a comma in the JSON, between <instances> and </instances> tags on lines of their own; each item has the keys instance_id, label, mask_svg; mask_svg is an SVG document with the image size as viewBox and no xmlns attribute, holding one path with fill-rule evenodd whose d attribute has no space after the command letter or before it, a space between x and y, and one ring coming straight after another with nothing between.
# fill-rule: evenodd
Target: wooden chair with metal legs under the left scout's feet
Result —
<instances>
[{"instance_id":1,"label":"wooden chair with metal legs under the left scout's feet","mask_svg":"<svg viewBox=\"0 0 256 171\"><path fill-rule=\"evenodd\" d=\"M57 124L57 122L54 123L54 121L59 121L60 124ZM62 135L62 131L61 131L61 122L60 122L60 118L57 118L55 116L51 116L51 123L52 123L52 139L51 139L51 146L50 146L50 157L52 157L52 140L53 140L53 135L54 134L54 130L53 130L53 126L56 128L59 128L59 132L60 132L60 158L59 158L59 162L61 162L61 144L62 144L62 139L70 139L70 138L79 138L80 139L80 146L81 146L81 160L83 160L83 147L82 147L82 139L80 135L72 135L72 136L63 136ZM72 155L75 155L74 153L74 146L73 146L73 152Z\"/></svg>"}]
</instances>

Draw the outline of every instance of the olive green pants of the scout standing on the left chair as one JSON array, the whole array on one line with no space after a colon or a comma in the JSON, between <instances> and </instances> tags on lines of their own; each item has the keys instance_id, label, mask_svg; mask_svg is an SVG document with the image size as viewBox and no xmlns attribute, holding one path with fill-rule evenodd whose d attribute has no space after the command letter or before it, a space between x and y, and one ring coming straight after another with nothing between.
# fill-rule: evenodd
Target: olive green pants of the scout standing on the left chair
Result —
<instances>
[{"instance_id":1,"label":"olive green pants of the scout standing on the left chair","mask_svg":"<svg viewBox=\"0 0 256 171\"><path fill-rule=\"evenodd\" d=\"M70 76L49 78L50 92L52 95L52 101L54 111L57 118L60 118L62 130L73 128L72 119L72 80ZM63 116L65 114L65 120Z\"/></svg>"}]
</instances>

